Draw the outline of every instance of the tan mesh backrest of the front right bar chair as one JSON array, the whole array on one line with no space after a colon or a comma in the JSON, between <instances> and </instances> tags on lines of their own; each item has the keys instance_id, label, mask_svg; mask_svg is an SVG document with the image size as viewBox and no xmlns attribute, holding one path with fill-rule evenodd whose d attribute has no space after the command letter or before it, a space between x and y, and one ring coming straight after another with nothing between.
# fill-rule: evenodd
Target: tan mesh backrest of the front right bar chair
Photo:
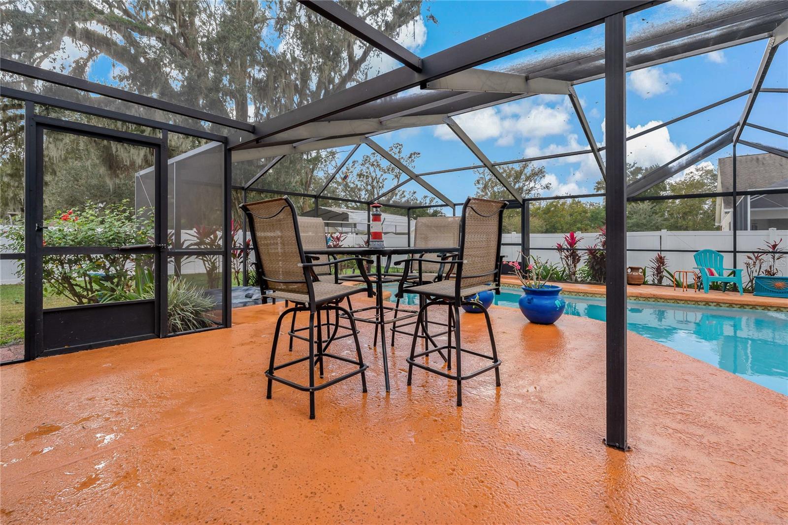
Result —
<instances>
[{"instance_id":1,"label":"tan mesh backrest of the front right bar chair","mask_svg":"<svg viewBox=\"0 0 788 525\"><path fill-rule=\"evenodd\" d=\"M496 281L505 207L502 200L466 199L459 235L459 259L465 263L457 271L458 293L468 286Z\"/></svg>"}]
</instances>

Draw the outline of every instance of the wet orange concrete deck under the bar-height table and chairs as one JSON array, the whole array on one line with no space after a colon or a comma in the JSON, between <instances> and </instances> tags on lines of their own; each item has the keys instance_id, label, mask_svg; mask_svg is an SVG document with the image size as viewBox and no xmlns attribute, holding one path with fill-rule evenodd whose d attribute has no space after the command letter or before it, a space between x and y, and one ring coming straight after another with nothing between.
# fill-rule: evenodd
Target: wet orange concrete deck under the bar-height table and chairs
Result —
<instances>
[{"instance_id":1,"label":"wet orange concrete deck under the bar-height table and chairs","mask_svg":"<svg viewBox=\"0 0 788 525\"><path fill-rule=\"evenodd\" d=\"M671 348L630 333L631 452L601 442L604 323L537 326L505 307L491 310L500 389L471 379L457 408L444 378L414 370L407 387L402 337L390 394L366 348L369 393L357 377L322 390L310 421L307 394L275 385L265 398L281 308L2 367L2 523L788 519L788 397ZM481 316L461 322L468 347L485 348ZM333 352L350 356L350 341ZM287 377L303 379L295 368Z\"/></svg>"}]
</instances>

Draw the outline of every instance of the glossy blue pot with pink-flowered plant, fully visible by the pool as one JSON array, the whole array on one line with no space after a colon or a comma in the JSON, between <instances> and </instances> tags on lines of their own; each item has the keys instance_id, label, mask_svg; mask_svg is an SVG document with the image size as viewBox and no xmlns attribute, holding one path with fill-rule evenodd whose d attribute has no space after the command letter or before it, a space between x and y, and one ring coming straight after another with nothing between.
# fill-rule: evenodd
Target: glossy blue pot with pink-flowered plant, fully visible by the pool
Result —
<instances>
[{"instance_id":1,"label":"glossy blue pot with pink-flowered plant, fully visible by the pool","mask_svg":"<svg viewBox=\"0 0 788 525\"><path fill-rule=\"evenodd\" d=\"M525 269L517 261L507 261L506 264L511 266L525 292L519 300L522 315L540 325L556 322L567 307L567 302L559 295L562 290L560 286L547 284L552 275L552 266L533 255Z\"/></svg>"}]
</instances>

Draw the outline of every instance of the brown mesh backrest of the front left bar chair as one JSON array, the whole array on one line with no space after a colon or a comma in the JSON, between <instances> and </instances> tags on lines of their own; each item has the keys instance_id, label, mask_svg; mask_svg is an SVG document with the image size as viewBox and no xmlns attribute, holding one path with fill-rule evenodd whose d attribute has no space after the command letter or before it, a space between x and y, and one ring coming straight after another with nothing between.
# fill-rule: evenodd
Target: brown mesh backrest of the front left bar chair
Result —
<instances>
[{"instance_id":1,"label":"brown mesh backrest of the front left bar chair","mask_svg":"<svg viewBox=\"0 0 788 525\"><path fill-rule=\"evenodd\" d=\"M307 293L306 273L296 208L287 197L241 205L247 214L252 244L262 273L263 290ZM284 281L284 282L283 282Z\"/></svg>"}]
</instances>

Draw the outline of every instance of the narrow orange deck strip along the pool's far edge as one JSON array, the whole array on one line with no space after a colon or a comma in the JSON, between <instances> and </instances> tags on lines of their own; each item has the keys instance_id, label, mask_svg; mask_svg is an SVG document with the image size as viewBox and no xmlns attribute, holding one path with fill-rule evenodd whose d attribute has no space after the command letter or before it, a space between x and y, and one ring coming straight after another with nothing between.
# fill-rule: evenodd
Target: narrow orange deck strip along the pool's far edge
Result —
<instances>
[{"instance_id":1,"label":"narrow orange deck strip along the pool's far edge","mask_svg":"<svg viewBox=\"0 0 788 525\"><path fill-rule=\"evenodd\" d=\"M504 285L519 286L520 281L517 277L504 275L501 277ZM589 285L585 283L573 282L553 282L552 285L559 285L564 293L604 296L606 289L604 285ZM667 303L702 303L704 306L727 306L740 308L760 308L764 310L788 311L788 299L779 297L753 296L750 292L739 295L737 290L720 292L719 290L709 290L704 293L703 289L696 292L690 285L689 289L682 291L681 286L655 286L655 285L629 285L626 287L626 296L630 299L663 301Z\"/></svg>"}]
</instances>

